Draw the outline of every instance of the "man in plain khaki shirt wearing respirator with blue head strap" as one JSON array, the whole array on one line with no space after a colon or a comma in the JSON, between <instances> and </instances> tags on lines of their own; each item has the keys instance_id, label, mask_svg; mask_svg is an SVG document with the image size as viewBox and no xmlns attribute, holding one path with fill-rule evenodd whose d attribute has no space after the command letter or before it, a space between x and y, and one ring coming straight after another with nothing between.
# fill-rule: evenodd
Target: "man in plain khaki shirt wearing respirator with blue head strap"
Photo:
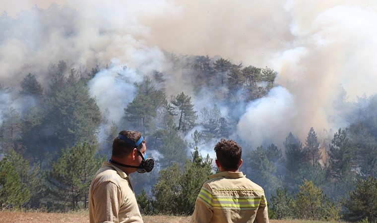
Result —
<instances>
[{"instance_id":1,"label":"man in plain khaki shirt wearing respirator with blue head strap","mask_svg":"<svg viewBox=\"0 0 377 223\"><path fill-rule=\"evenodd\" d=\"M90 223L142 223L129 174L150 172L140 132L123 130L114 139L111 159L97 171L89 188Z\"/></svg>"}]
</instances>

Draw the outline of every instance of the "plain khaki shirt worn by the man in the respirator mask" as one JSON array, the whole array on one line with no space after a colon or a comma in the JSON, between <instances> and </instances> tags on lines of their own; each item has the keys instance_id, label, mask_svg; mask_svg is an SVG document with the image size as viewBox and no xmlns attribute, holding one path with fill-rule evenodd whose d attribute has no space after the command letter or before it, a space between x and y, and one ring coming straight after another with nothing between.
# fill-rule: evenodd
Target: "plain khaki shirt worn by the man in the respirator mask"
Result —
<instances>
[{"instance_id":1,"label":"plain khaki shirt worn by the man in the respirator mask","mask_svg":"<svg viewBox=\"0 0 377 223\"><path fill-rule=\"evenodd\" d=\"M90 223L142 223L127 174L105 162L89 188Z\"/></svg>"}]
</instances>

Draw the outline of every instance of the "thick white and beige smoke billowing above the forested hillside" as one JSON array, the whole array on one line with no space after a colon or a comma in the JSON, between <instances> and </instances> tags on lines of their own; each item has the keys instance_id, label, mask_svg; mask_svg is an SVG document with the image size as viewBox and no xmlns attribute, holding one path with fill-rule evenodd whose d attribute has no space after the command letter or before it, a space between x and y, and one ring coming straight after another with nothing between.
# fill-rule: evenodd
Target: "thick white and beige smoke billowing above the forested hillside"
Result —
<instances>
[{"instance_id":1,"label":"thick white and beige smoke billowing above the forested hillside","mask_svg":"<svg viewBox=\"0 0 377 223\"><path fill-rule=\"evenodd\" d=\"M289 131L305 141L310 127L344 127L348 123L334 118L342 112L336 105L344 92L348 101L376 93L373 0L55 1L61 6L50 6L53 0L22 2L0 5L14 18L1 19L0 83L19 86L29 72L43 82L48 80L42 76L48 64L59 60L89 69L118 61L90 83L101 111L108 109L114 120L123 108L112 108L106 100L118 98L118 91L127 88L129 95L116 99L123 107L134 89L131 82L115 82L113 68L126 65L137 78L153 69L165 72L168 96L182 91L194 96L185 72L173 70L163 51L222 56L278 72L275 84L280 87L240 113L236 134L253 147L267 140L279 144ZM39 8L30 10L34 4L47 10L47 17L38 14ZM204 104L201 98L193 102L198 108ZM212 103L217 102L206 99L208 108Z\"/></svg>"}]
</instances>

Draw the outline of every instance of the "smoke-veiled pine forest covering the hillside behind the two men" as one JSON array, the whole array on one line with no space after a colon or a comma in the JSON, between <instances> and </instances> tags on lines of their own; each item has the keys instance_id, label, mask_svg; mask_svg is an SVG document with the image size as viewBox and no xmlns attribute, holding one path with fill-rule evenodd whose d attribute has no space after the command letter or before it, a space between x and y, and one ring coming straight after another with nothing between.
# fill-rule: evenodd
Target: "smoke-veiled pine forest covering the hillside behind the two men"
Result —
<instances>
[{"instance_id":1,"label":"smoke-veiled pine forest covering the hillside behind the two men","mask_svg":"<svg viewBox=\"0 0 377 223\"><path fill-rule=\"evenodd\" d=\"M3 108L1 113L1 208L87 208L90 180L109 158L112 140L120 130L134 129L145 136L148 153L157 163L151 173L131 176L142 211L191 214L201 184L216 171L214 157L202 147L237 137L239 117L232 115L232 108L265 97L277 87L278 74L221 57L170 56L198 93L168 97L169 75L157 70L138 73L142 76L133 83L136 93L122 108L118 123L100 111L89 88L96 75L111 72L111 65L80 72L59 61L49 66L47 88L32 73L25 75L19 90L2 84L2 100L22 101L23 107ZM124 66L114 75L122 81L129 69ZM192 98L200 97L201 89L223 103L196 111ZM122 89L125 95L128 90ZM118 106L116 100L108 100ZM377 98L365 100L369 106L364 118L339 128L330 139L318 138L314 128L303 141L290 132L282 148L268 142L251 148L235 138L244 148L241 170L265 189L271 218L376 217L376 205L367 210L357 203L374 204L377 194L377 123L372 112ZM226 105L229 113L223 114L220 105ZM313 205L315 210L310 210ZM290 212L292 208L300 212Z\"/></svg>"}]
</instances>

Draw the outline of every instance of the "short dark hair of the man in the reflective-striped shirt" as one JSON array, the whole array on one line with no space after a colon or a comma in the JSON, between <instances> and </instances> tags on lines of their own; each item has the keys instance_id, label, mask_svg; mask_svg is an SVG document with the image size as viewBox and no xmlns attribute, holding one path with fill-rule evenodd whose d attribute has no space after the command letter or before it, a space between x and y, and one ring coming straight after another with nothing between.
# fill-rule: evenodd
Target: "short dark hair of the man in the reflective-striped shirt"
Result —
<instances>
[{"instance_id":1,"label":"short dark hair of the man in the reflective-striped shirt","mask_svg":"<svg viewBox=\"0 0 377 223\"><path fill-rule=\"evenodd\" d=\"M221 139L215 145L217 161L225 170L235 170L240 166L242 148L233 140Z\"/></svg>"}]
</instances>

